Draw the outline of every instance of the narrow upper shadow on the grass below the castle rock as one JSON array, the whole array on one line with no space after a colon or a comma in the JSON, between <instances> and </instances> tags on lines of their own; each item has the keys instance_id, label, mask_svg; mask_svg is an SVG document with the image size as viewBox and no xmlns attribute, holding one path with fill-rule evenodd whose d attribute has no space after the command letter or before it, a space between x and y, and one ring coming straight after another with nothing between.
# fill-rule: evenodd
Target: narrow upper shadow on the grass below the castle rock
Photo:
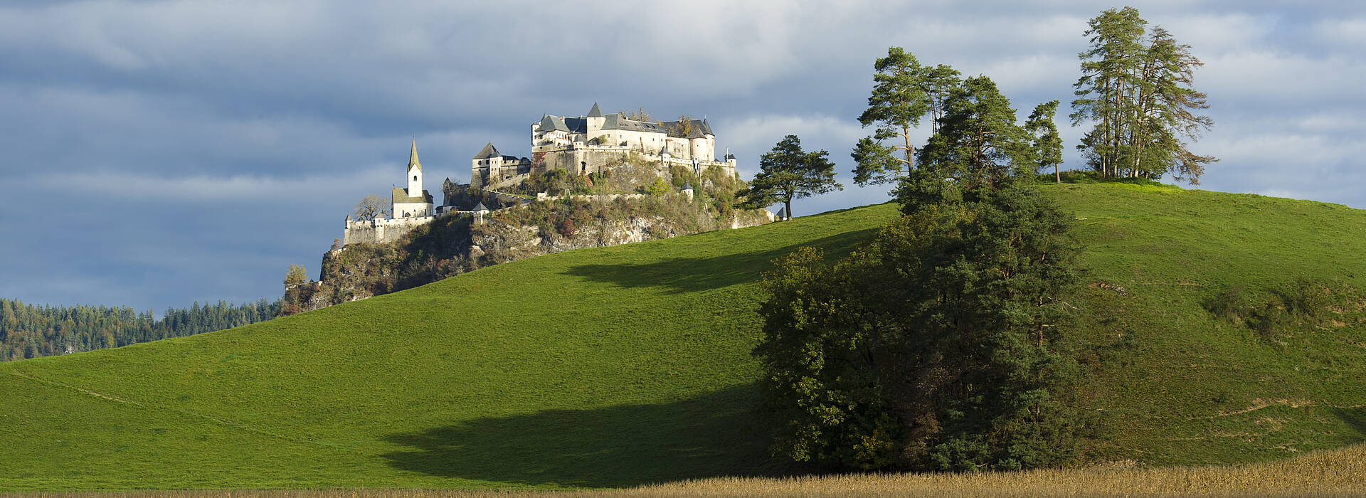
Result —
<instances>
[{"instance_id":1,"label":"narrow upper shadow on the grass below the castle rock","mask_svg":"<svg viewBox=\"0 0 1366 498\"><path fill-rule=\"evenodd\" d=\"M876 229L867 228L769 251L712 258L671 258L646 265L578 265L571 266L566 273L626 288L663 287L673 292L719 289L758 281L761 273L773 267L773 259L781 258L798 247L824 248L829 261L843 258L854 251L859 243L869 240L874 232Z\"/></svg>"}]
</instances>

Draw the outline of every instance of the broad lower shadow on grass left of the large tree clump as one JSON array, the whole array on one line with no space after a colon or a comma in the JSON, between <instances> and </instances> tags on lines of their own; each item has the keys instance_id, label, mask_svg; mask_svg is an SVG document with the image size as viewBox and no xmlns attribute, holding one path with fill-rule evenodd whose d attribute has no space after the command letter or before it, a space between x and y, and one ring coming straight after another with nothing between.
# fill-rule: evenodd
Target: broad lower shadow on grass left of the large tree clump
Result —
<instances>
[{"instance_id":1,"label":"broad lower shadow on grass left of the large tree clump","mask_svg":"<svg viewBox=\"0 0 1366 498\"><path fill-rule=\"evenodd\" d=\"M766 442L751 423L758 387L669 404L484 418L385 441L398 469L514 484L623 487L758 473Z\"/></svg>"}]
</instances>

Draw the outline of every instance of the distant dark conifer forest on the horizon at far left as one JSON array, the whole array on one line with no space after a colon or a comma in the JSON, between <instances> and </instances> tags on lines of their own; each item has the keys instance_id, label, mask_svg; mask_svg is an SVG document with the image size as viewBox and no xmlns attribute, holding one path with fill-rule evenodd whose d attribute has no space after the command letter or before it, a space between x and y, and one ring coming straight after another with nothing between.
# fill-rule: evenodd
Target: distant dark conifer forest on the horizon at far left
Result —
<instances>
[{"instance_id":1,"label":"distant dark conifer forest on the horizon at far left","mask_svg":"<svg viewBox=\"0 0 1366 498\"><path fill-rule=\"evenodd\" d=\"M280 312L280 302L217 304L194 303L167 308L160 319L152 311L130 307L33 306L0 297L0 360L67 355L116 348L167 337L194 336L264 322Z\"/></svg>"}]
</instances>

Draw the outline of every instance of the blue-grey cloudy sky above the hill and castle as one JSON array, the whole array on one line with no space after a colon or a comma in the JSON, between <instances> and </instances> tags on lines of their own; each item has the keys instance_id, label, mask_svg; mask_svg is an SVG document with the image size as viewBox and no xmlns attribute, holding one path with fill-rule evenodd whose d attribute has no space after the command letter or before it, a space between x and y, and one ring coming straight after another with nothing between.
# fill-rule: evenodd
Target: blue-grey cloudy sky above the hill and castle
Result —
<instances>
[{"instance_id":1,"label":"blue-grey cloudy sky above the hill and castle","mask_svg":"<svg viewBox=\"0 0 1366 498\"><path fill-rule=\"evenodd\" d=\"M795 134L844 190L798 216L878 203L850 150L872 64L903 46L988 75L1020 116L1065 119L1091 1L0 3L0 297L187 307L270 300L417 139L425 187L469 181L485 142L530 154L542 113L708 117L749 179ZM1198 188L1366 209L1366 7L1135 1L1191 45L1221 158ZM1292 5L1292 7L1291 7ZM438 195L440 198L440 195Z\"/></svg>"}]
</instances>

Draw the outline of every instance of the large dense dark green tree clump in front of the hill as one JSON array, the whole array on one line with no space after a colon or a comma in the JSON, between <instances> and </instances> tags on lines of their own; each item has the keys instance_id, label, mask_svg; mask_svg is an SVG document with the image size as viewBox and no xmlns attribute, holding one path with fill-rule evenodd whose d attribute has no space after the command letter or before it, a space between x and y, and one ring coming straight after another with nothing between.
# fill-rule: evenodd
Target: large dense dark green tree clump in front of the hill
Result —
<instances>
[{"instance_id":1,"label":"large dense dark green tree clump in front of the hill","mask_svg":"<svg viewBox=\"0 0 1366 498\"><path fill-rule=\"evenodd\" d=\"M754 355L775 454L953 471L1075 454L1071 217L1033 190L1034 141L989 78L940 105L900 220L841 261L799 248L765 276Z\"/></svg>"}]
</instances>

